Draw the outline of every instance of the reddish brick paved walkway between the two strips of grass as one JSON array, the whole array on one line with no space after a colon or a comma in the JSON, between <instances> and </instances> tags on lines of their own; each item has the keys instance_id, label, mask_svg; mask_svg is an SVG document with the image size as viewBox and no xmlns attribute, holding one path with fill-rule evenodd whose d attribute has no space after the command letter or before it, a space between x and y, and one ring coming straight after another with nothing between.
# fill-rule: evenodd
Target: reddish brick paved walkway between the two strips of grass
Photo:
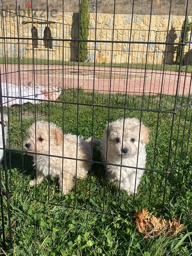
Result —
<instances>
[{"instance_id":1,"label":"reddish brick paved walkway between the two strips of grass","mask_svg":"<svg viewBox=\"0 0 192 256\"><path fill-rule=\"evenodd\" d=\"M60 88L77 88L99 92L128 92L131 94L163 93L175 95L178 73L160 70L140 70L109 67L78 67L59 65L0 65L1 80L15 85L37 84L58 86ZM6 75L7 74L7 75ZM191 93L191 74L181 73L178 93Z\"/></svg>"}]
</instances>

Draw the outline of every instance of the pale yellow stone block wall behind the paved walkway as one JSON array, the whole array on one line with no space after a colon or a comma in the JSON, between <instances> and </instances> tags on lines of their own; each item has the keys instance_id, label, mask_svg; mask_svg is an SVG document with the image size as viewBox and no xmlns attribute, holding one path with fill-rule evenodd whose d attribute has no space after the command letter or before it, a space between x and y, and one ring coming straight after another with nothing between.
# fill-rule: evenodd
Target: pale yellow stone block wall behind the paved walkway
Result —
<instances>
[{"instance_id":1,"label":"pale yellow stone block wall behind the paved walkway","mask_svg":"<svg viewBox=\"0 0 192 256\"><path fill-rule=\"evenodd\" d=\"M3 12L0 36L4 39L0 39L0 56L76 61L78 13L58 13L48 18L47 13L36 13L33 18L24 15L22 12L20 16ZM93 62L95 58L100 63L145 64L147 61L162 64L165 59L167 64L172 64L184 18L171 16L169 20L169 16L158 15L150 18L149 15L97 14L96 19L96 14L91 13L87 61ZM33 26L38 31L38 48L32 47ZM43 41L46 26L49 26L53 38L52 49L49 50ZM170 44L166 45L166 42ZM189 46L186 45L185 52L188 51Z\"/></svg>"}]
</instances>

